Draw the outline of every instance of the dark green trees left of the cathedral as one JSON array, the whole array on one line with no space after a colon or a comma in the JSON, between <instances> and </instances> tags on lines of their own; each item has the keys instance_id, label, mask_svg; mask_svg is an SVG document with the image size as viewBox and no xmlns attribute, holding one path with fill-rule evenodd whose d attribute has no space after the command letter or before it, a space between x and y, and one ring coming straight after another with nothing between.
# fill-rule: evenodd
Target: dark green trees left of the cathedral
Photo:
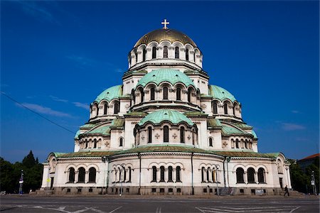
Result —
<instances>
[{"instance_id":1,"label":"dark green trees left of the cathedral","mask_svg":"<svg viewBox=\"0 0 320 213\"><path fill-rule=\"evenodd\" d=\"M23 170L23 192L41 187L43 165L34 158L32 151L23 158L22 163L11 164L0 157L0 191L18 193L19 180Z\"/></svg>"}]
</instances>

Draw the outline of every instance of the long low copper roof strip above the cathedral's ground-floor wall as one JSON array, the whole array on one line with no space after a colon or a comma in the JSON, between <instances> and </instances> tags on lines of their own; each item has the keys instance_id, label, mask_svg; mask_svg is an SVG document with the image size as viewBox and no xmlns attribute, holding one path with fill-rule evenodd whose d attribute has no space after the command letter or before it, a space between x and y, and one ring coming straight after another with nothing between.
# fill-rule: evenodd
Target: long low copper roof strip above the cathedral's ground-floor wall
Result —
<instances>
[{"instance_id":1,"label":"long low copper roof strip above the cathedral's ground-floor wall","mask_svg":"<svg viewBox=\"0 0 320 213\"><path fill-rule=\"evenodd\" d=\"M255 153L250 151L208 151L193 146L178 145L148 145L131 148L126 151L80 151L75 153L55 153L57 158L77 158L77 157L102 157L110 155L128 153L153 153L153 152L177 152L177 153L205 153L237 158L277 158L279 153Z\"/></svg>"}]
</instances>

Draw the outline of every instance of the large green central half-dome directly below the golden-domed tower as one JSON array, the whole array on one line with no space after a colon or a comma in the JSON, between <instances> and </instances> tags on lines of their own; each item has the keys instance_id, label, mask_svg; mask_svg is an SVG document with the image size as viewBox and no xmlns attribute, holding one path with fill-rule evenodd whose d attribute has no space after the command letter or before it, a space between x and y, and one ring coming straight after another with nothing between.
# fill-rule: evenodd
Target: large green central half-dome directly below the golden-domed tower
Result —
<instances>
[{"instance_id":1,"label":"large green central half-dome directly below the golden-domed tower","mask_svg":"<svg viewBox=\"0 0 320 213\"><path fill-rule=\"evenodd\" d=\"M186 85L186 87L189 85L195 87L192 80L186 74L180 72L179 70L173 69L152 70L148 74L144 75L141 80L139 80L137 87L139 85L144 87L149 82L154 82L156 85L159 85L161 82L170 82L173 85L181 82L182 84Z\"/></svg>"}]
</instances>

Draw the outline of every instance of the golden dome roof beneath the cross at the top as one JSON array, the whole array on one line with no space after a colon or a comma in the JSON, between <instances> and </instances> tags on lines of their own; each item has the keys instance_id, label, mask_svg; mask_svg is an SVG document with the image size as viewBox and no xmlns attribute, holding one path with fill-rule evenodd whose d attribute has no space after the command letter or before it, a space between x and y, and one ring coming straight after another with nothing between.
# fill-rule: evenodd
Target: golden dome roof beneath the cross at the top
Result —
<instances>
[{"instance_id":1,"label":"golden dome roof beneath the cross at the top","mask_svg":"<svg viewBox=\"0 0 320 213\"><path fill-rule=\"evenodd\" d=\"M193 40L188 37L188 35L176 30L162 28L151 31L150 33L146 33L146 35L142 36L142 38L137 41L136 45L134 45L134 48L137 48L141 44L148 45L148 43L150 43L151 41L160 43L162 40L169 40L171 43L180 41L181 43L183 43L183 45L185 45L186 43L190 43L191 45L193 45L193 47L197 46L196 43L194 43Z\"/></svg>"}]
</instances>

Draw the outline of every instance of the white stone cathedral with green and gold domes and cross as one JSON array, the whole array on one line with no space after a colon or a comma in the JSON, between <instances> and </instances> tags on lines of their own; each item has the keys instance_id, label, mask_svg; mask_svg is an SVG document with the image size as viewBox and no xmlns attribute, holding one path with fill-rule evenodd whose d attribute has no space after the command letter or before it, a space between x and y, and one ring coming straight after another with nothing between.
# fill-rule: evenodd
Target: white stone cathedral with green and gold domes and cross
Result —
<instances>
[{"instance_id":1,"label":"white stone cathedral with green and gold domes and cross","mask_svg":"<svg viewBox=\"0 0 320 213\"><path fill-rule=\"evenodd\" d=\"M50 153L41 190L55 195L279 195L282 153L259 153L242 104L209 84L203 53L168 28L143 35L123 83L90 104L73 153Z\"/></svg>"}]
</instances>

